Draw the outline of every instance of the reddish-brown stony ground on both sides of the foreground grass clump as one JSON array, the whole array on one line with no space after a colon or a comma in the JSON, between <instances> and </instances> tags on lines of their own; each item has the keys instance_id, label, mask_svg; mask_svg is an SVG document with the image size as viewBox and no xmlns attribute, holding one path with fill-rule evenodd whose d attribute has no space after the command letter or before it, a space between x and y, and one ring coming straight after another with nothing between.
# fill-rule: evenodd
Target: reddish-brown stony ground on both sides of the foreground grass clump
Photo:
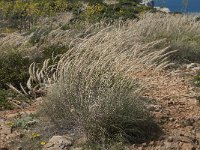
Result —
<instances>
[{"instance_id":1,"label":"reddish-brown stony ground on both sides of the foreground grass clump","mask_svg":"<svg viewBox=\"0 0 200 150\"><path fill-rule=\"evenodd\" d=\"M144 95L154 100L148 105L163 135L155 141L134 144L127 150L198 150L200 149L200 106L196 97L198 88L193 84L193 77L199 70L198 64L190 64L171 71L145 70L136 76L141 82L148 83ZM9 121L24 114L35 113L37 105L24 110L0 112L0 146L1 150L9 149L10 139L20 139L19 132L13 132ZM44 150L74 149L73 137L69 135L53 136L44 143ZM82 140L84 141L84 140ZM23 149L15 147L12 149Z\"/></svg>"}]
</instances>

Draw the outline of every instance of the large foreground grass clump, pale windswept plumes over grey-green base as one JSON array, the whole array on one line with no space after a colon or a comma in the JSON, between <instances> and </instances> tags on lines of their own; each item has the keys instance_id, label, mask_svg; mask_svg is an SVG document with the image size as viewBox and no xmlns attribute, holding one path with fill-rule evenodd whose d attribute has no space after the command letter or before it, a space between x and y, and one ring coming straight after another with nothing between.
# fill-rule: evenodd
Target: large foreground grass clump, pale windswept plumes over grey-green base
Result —
<instances>
[{"instance_id":1,"label":"large foreground grass clump, pale windswept plumes over grey-green base","mask_svg":"<svg viewBox=\"0 0 200 150\"><path fill-rule=\"evenodd\" d=\"M124 24L82 38L58 62L42 108L58 127L80 130L95 142L143 142L159 135L140 86L126 73L167 66L161 58L168 48L155 48L161 42L138 44Z\"/></svg>"}]
</instances>

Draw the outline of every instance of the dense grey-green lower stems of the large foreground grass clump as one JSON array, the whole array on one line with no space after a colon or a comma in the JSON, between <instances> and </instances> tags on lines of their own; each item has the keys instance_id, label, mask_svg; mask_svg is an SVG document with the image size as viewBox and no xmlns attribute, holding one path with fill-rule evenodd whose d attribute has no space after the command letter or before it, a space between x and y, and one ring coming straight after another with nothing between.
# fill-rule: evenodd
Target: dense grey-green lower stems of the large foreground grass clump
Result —
<instances>
[{"instance_id":1,"label":"dense grey-green lower stems of the large foreground grass clump","mask_svg":"<svg viewBox=\"0 0 200 150\"><path fill-rule=\"evenodd\" d=\"M92 142L143 142L152 138L157 126L134 91L137 85L116 74L68 70L53 85L44 107L60 128L84 132Z\"/></svg>"}]
</instances>

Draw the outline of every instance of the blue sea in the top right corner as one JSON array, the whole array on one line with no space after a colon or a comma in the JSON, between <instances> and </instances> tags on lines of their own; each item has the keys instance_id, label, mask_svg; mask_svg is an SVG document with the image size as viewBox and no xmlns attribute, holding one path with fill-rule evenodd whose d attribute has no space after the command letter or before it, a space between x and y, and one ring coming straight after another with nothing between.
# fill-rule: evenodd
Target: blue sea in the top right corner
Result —
<instances>
[{"instance_id":1,"label":"blue sea in the top right corner","mask_svg":"<svg viewBox=\"0 0 200 150\"><path fill-rule=\"evenodd\" d=\"M188 6L184 7L184 0L155 0L155 5L167 7L171 12L200 13L200 0L188 0Z\"/></svg>"}]
</instances>

